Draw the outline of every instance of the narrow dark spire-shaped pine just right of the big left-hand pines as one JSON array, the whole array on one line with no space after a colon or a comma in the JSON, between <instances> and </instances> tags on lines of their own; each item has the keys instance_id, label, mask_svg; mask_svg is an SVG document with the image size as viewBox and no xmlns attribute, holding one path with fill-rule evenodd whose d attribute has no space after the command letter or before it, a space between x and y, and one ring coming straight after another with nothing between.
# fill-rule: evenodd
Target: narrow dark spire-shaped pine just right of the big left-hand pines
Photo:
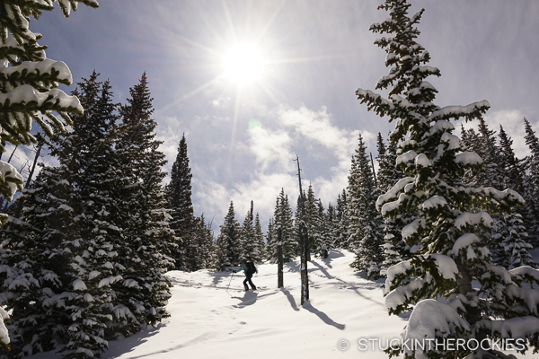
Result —
<instances>
[{"instance_id":1,"label":"narrow dark spire-shaped pine just right of the big left-hand pines","mask_svg":"<svg viewBox=\"0 0 539 359\"><path fill-rule=\"evenodd\" d=\"M178 145L176 161L172 163L171 181L164 188L167 208L172 216L170 227L176 235L178 250L172 253L176 269L198 270L196 262L199 258L199 248L194 238L193 203L191 201L192 174L187 156L187 141L185 134L181 136Z\"/></svg>"}]
</instances>

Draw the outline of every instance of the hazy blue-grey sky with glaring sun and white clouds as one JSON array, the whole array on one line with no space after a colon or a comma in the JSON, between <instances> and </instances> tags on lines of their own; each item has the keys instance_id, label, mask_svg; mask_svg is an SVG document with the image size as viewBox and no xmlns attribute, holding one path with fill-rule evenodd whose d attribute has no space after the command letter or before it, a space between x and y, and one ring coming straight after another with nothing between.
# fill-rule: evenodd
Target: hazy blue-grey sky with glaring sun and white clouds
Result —
<instances>
[{"instance_id":1,"label":"hazy blue-grey sky with glaring sun and white clouds","mask_svg":"<svg viewBox=\"0 0 539 359\"><path fill-rule=\"evenodd\" d=\"M69 19L44 13L31 30L75 81L93 69L110 78L117 101L146 71L166 171L187 138L196 214L215 216L218 232L231 200L242 222L253 200L265 229L280 188L296 206L296 154L304 188L327 207L347 185L358 131L376 155L376 134L393 128L354 94L387 72L368 31L387 17L379 3L102 0ZM442 72L429 80L437 104L490 101L491 128L503 123L526 154L522 118L539 129L539 2L412 4L426 9L419 42Z\"/></svg>"}]
</instances>

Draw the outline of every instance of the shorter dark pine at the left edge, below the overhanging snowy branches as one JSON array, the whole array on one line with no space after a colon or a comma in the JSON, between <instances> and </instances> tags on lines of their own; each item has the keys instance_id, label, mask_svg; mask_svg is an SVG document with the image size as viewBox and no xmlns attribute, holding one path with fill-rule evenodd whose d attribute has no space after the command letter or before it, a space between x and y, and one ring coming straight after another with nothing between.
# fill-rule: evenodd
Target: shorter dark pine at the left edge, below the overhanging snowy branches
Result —
<instances>
[{"instance_id":1,"label":"shorter dark pine at the left edge, below the overhanging snowy branches","mask_svg":"<svg viewBox=\"0 0 539 359\"><path fill-rule=\"evenodd\" d=\"M69 264L66 243L74 234L73 194L58 168L45 167L26 188L21 218L10 217L0 246L0 305L13 311L8 325L12 354L34 355L67 343ZM19 285L17 285L19 284Z\"/></svg>"}]
</instances>

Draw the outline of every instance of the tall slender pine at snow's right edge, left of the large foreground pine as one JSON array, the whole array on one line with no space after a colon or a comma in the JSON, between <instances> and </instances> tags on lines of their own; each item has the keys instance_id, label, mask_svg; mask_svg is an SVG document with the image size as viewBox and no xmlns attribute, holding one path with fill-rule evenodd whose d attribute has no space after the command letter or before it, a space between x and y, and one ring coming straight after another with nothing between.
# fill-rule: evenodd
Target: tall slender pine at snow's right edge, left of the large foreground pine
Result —
<instances>
[{"instance_id":1,"label":"tall slender pine at snow's right edge, left of the large foreground pine","mask_svg":"<svg viewBox=\"0 0 539 359\"><path fill-rule=\"evenodd\" d=\"M367 272L369 279L377 279L384 261L384 221L376 211L375 202L379 190L375 186L371 163L367 158L367 146L361 134L353 156L347 193L349 245L356 253L350 266Z\"/></svg>"}]
</instances>

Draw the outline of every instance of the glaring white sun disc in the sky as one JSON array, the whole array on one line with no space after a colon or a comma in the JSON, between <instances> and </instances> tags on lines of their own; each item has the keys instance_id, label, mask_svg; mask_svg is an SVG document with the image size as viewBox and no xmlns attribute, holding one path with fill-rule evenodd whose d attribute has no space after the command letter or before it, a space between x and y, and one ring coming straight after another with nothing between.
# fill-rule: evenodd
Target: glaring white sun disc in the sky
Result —
<instances>
[{"instance_id":1,"label":"glaring white sun disc in the sky","mask_svg":"<svg viewBox=\"0 0 539 359\"><path fill-rule=\"evenodd\" d=\"M259 80L264 59L255 46L238 44L225 55L224 65L226 75L234 82L247 84Z\"/></svg>"}]
</instances>

